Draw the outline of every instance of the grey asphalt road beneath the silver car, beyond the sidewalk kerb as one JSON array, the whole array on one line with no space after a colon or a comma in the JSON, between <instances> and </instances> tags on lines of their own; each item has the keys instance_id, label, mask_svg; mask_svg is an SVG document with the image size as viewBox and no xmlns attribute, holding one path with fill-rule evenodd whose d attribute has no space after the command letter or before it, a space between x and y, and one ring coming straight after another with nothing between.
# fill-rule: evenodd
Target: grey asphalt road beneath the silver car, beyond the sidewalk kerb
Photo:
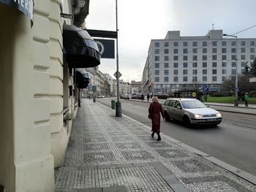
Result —
<instances>
[{"instance_id":1,"label":"grey asphalt road beneath the silver car, beyond the sidewalk kerb","mask_svg":"<svg viewBox=\"0 0 256 192\"><path fill-rule=\"evenodd\" d=\"M110 107L110 100L97 99ZM124 115L151 126L148 103L121 99ZM214 108L214 107L213 107ZM179 122L162 120L161 131L238 169L256 175L256 115L221 112L217 127L187 128Z\"/></svg>"}]
</instances>

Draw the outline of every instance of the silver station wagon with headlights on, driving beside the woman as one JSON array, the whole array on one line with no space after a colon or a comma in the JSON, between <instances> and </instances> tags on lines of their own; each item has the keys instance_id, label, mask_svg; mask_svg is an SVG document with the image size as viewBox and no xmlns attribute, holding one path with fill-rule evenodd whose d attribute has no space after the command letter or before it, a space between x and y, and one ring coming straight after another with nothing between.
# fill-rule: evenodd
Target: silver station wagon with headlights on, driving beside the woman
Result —
<instances>
[{"instance_id":1,"label":"silver station wagon with headlights on, driving beside the woman","mask_svg":"<svg viewBox=\"0 0 256 192\"><path fill-rule=\"evenodd\" d=\"M165 119L181 120L185 126L190 124L211 124L217 126L222 122L222 115L214 109L206 107L197 99L173 98L166 99L162 104Z\"/></svg>"}]
</instances>

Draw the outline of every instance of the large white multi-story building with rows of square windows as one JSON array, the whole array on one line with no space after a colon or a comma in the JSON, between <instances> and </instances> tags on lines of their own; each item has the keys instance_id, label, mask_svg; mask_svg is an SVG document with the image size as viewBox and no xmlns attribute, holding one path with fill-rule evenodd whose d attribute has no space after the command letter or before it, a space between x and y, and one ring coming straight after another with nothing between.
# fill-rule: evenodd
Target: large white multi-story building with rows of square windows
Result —
<instances>
[{"instance_id":1,"label":"large white multi-story building with rows of square windows","mask_svg":"<svg viewBox=\"0 0 256 192\"><path fill-rule=\"evenodd\" d=\"M222 82L236 75L236 62L240 74L246 62L254 60L255 45L256 38L223 38L222 30L202 37L168 31L165 39L151 40L143 90L156 95L208 85L209 91L219 91Z\"/></svg>"}]
</instances>

